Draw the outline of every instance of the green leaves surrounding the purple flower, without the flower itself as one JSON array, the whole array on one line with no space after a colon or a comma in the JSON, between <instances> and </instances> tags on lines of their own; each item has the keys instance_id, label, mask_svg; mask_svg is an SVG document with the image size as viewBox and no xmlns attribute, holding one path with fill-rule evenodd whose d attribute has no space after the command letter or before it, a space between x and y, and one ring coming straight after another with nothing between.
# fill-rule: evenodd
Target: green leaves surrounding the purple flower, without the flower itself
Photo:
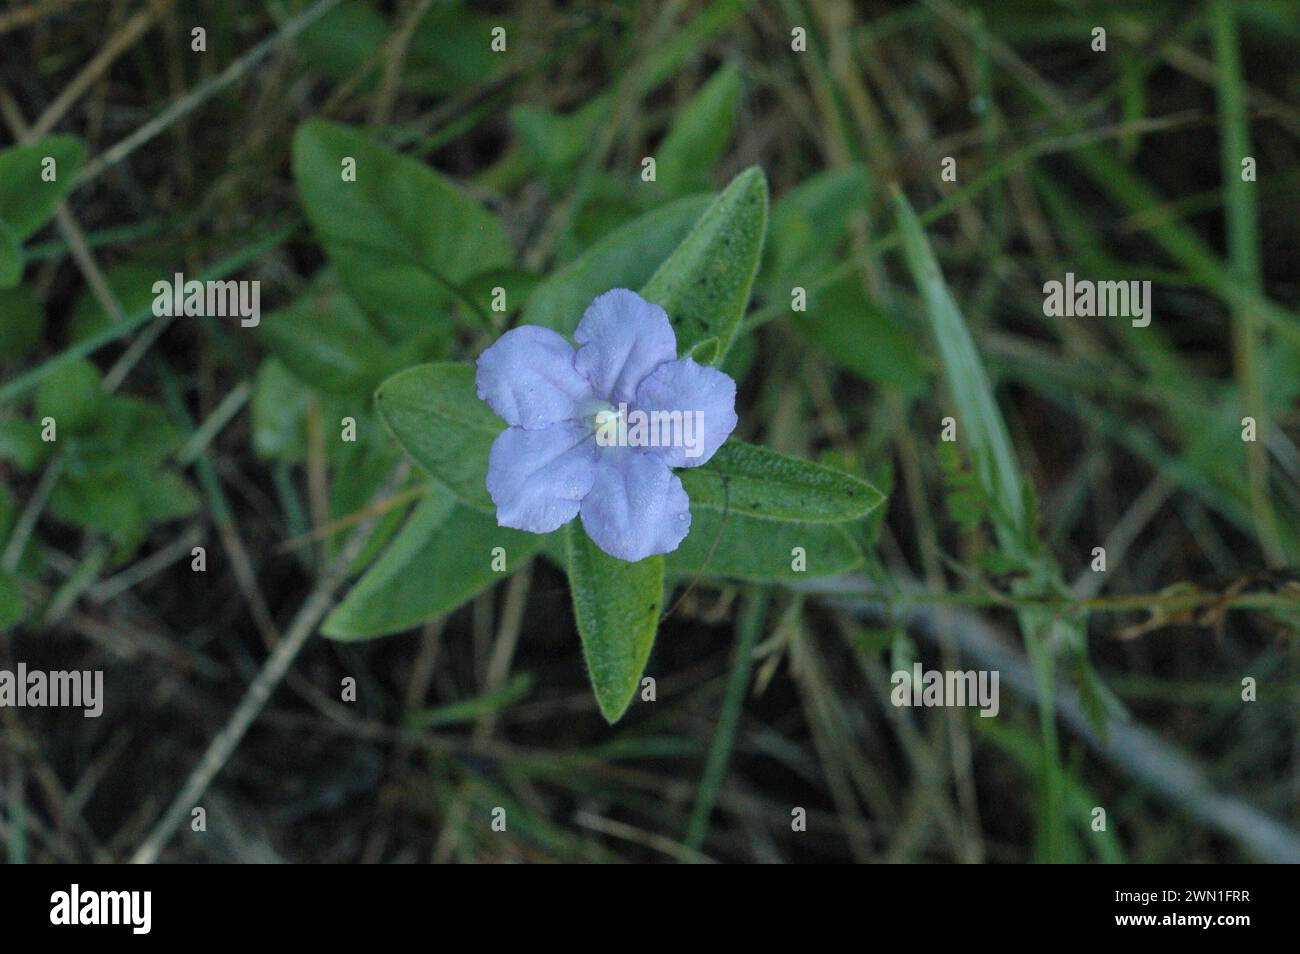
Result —
<instances>
[{"instance_id":1,"label":"green leaves surrounding the purple flower, without the flower itself","mask_svg":"<svg viewBox=\"0 0 1300 954\"><path fill-rule=\"evenodd\" d=\"M355 160L355 182L341 173L347 159ZM302 303L269 316L264 337L303 385L321 399L325 391L338 395L330 407L339 413L365 413L367 391L377 383L378 416L419 465L413 480L424 487L424 499L326 619L326 636L360 639L410 629L543 550L568 573L592 686L615 721L654 643L666 578L789 578L794 546L814 548L818 573L858 564L845 528L875 509L881 494L861 477L737 439L681 472L690 532L666 555L629 563L573 525L545 534L498 526L488 468L504 425L478 400L469 360L454 359L474 357L482 341L497 337L502 312L493 311L494 289L504 290L497 299L511 307L514 255L504 230L451 181L344 126L304 125L294 140L294 174L329 273ZM767 201L763 173L749 169L711 199L634 216L564 268L525 279L530 291L520 324L572 335L598 292L640 287L667 313L681 355L725 367L744 333ZM441 308L459 328L436 333L430 317ZM324 329L295 333L295 322L306 331L322 312L332 317ZM396 370L402 363L412 367ZM276 381L265 377L259 386ZM302 402L265 406L274 415ZM329 420L337 420L334 412ZM260 429L280 428L264 419ZM377 473L370 486L380 480Z\"/></svg>"}]
</instances>

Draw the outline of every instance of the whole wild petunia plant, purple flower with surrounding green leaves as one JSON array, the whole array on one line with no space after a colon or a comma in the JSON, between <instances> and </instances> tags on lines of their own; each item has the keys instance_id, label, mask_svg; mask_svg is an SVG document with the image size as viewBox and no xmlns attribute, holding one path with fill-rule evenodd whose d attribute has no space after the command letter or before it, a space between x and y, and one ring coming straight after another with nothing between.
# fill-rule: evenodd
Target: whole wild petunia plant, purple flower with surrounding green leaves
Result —
<instances>
[{"instance_id":1,"label":"whole wild petunia plant, purple flower with surrounding green leaves","mask_svg":"<svg viewBox=\"0 0 1300 954\"><path fill-rule=\"evenodd\" d=\"M355 181L339 175L344 159ZM742 339L762 260L762 170L716 196L653 208L545 277L514 266L478 201L361 133L304 123L294 174L338 286L317 311L347 309L348 333L325 341L320 328L315 354L292 354L300 335L274 333L277 320L302 320L287 309L263 320L268 343L304 381L306 365L329 357L330 413L365 413L361 385L380 381L373 407L420 468L407 491L420 500L326 619L326 636L420 625L541 552L568 576L588 675L612 723L640 685L666 587L780 584L861 561L875 487L732 437L745 360L722 365ZM511 307L523 313L497 334L491 302L503 291L517 292ZM458 322L460 339L494 329L495 341L468 348L477 364L452 360ZM425 363L391 373L394 347L363 360L358 334Z\"/></svg>"}]
</instances>

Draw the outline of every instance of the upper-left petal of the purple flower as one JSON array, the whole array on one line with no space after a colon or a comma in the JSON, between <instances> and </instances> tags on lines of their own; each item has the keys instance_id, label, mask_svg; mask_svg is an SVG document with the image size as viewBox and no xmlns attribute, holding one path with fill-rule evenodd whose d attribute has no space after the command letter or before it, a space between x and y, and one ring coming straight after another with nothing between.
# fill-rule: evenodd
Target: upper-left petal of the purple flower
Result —
<instances>
[{"instance_id":1,"label":"upper-left petal of the purple flower","mask_svg":"<svg viewBox=\"0 0 1300 954\"><path fill-rule=\"evenodd\" d=\"M516 428L534 430L576 419L592 386L573 367L573 347L549 328L506 331L478 355L478 396Z\"/></svg>"}]
</instances>

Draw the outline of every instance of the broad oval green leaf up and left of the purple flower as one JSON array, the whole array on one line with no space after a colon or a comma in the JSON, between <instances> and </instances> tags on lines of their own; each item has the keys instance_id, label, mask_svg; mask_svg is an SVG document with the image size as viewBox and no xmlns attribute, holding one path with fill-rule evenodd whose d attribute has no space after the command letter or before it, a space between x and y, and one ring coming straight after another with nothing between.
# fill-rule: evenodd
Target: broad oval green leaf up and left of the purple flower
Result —
<instances>
[{"instance_id":1,"label":"broad oval green leaf up and left of the purple flower","mask_svg":"<svg viewBox=\"0 0 1300 954\"><path fill-rule=\"evenodd\" d=\"M355 182L342 177L348 157ZM451 179L347 126L299 126L294 179L339 281L369 312L428 320L476 274L514 260L497 217Z\"/></svg>"}]
</instances>

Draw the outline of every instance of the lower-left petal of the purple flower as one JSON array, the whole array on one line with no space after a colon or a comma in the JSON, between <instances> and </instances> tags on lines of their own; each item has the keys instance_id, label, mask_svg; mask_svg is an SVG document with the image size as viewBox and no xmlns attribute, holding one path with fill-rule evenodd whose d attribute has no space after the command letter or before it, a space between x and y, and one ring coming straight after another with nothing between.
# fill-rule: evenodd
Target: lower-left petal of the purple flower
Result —
<instances>
[{"instance_id":1,"label":"lower-left petal of the purple flower","mask_svg":"<svg viewBox=\"0 0 1300 954\"><path fill-rule=\"evenodd\" d=\"M594 481L595 442L576 421L508 428L488 456L488 493L499 526L550 533L577 515Z\"/></svg>"}]
</instances>

